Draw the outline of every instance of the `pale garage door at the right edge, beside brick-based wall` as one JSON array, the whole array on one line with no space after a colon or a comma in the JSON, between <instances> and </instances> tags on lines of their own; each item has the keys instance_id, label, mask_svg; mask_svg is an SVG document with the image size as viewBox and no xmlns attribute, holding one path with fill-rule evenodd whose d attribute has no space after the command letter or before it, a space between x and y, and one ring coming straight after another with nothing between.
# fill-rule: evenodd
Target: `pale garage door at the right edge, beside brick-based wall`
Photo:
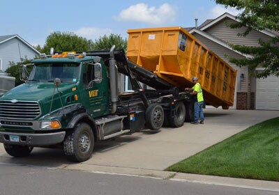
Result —
<instances>
[{"instance_id":1,"label":"pale garage door at the right edge, beside brick-based wall","mask_svg":"<svg viewBox=\"0 0 279 195\"><path fill-rule=\"evenodd\" d=\"M256 109L279 110L279 78L257 79Z\"/></svg>"}]
</instances>

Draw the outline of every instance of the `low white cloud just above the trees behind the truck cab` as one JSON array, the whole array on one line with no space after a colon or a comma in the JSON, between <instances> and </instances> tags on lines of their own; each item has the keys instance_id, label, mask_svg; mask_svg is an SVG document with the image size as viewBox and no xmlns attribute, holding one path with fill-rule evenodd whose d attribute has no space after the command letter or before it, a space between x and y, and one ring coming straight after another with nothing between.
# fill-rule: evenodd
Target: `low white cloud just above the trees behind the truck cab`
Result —
<instances>
[{"instance_id":1,"label":"low white cloud just above the trees behind the truck cab","mask_svg":"<svg viewBox=\"0 0 279 195\"><path fill-rule=\"evenodd\" d=\"M86 39L96 40L102 36L109 36L112 33L112 29L101 29L96 27L82 27L73 31L77 36L82 36Z\"/></svg>"}]
</instances>

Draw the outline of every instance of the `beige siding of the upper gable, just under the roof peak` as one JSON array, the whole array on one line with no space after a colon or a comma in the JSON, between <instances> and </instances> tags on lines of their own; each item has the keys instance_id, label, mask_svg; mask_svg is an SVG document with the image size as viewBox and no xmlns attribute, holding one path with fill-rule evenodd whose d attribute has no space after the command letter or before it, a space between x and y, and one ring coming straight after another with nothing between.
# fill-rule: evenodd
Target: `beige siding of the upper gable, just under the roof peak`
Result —
<instances>
[{"instance_id":1,"label":"beige siding of the upper gable, just under the roof peak","mask_svg":"<svg viewBox=\"0 0 279 195\"><path fill-rule=\"evenodd\" d=\"M236 21L226 18L225 20L221 20L217 24L211 26L209 29L206 29L204 32L234 45L258 46L259 39L266 41L271 38L259 31L250 31L246 37L237 36L239 33L243 33L246 30L246 27L231 29L228 24L232 23L236 23Z\"/></svg>"}]
</instances>

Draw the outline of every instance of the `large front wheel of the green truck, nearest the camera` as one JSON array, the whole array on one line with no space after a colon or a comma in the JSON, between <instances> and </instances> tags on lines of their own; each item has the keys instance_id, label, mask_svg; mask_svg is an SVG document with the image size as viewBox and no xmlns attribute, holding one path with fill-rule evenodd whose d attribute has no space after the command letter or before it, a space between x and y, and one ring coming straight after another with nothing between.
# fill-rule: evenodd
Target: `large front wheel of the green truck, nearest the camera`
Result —
<instances>
[{"instance_id":1,"label":"large front wheel of the green truck, nearest the camera","mask_svg":"<svg viewBox=\"0 0 279 195\"><path fill-rule=\"evenodd\" d=\"M84 162L92 155L94 134L87 123L78 123L63 142L64 153L74 162Z\"/></svg>"}]
</instances>

